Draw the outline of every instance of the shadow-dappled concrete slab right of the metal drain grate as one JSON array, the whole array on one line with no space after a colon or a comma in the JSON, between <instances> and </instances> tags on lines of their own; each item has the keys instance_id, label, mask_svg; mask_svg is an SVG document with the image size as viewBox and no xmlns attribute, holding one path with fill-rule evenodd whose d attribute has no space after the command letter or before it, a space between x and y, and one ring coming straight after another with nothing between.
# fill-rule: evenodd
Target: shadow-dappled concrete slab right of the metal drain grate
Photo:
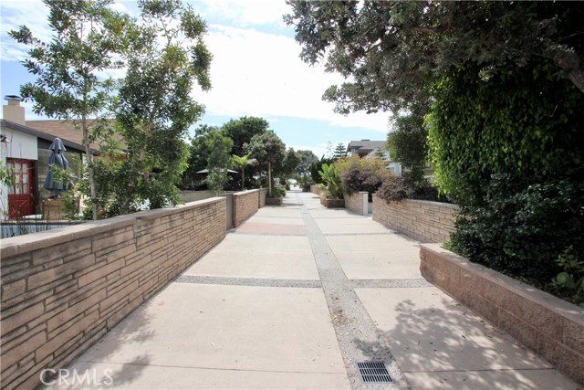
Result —
<instances>
[{"instance_id":1,"label":"shadow-dappled concrete slab right of the metal drain grate","mask_svg":"<svg viewBox=\"0 0 584 390\"><path fill-rule=\"evenodd\" d=\"M429 288L356 289L404 373L548 369L472 311ZM492 386L496 388L496 386Z\"/></svg>"}]
</instances>

